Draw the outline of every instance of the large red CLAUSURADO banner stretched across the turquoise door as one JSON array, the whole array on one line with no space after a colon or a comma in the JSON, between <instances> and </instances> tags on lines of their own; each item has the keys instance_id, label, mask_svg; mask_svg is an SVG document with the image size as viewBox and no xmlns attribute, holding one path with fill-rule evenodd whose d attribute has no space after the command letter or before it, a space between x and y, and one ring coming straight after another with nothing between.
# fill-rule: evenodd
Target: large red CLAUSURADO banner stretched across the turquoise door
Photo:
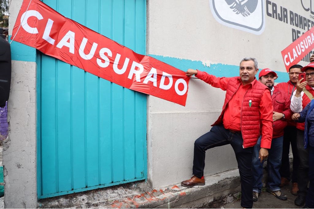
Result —
<instances>
[{"instance_id":1,"label":"large red CLAUSURADO banner stretched across the turquoise door","mask_svg":"<svg viewBox=\"0 0 314 209\"><path fill-rule=\"evenodd\" d=\"M185 106L190 77L65 18L39 0L24 0L11 39L120 86Z\"/></svg>"}]
</instances>

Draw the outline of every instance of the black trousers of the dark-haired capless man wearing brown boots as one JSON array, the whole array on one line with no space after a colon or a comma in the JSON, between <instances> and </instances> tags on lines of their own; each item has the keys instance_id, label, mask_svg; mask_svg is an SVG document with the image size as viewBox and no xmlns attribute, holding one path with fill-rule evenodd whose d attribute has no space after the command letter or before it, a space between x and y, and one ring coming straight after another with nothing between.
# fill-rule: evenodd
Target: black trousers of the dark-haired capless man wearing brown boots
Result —
<instances>
[{"instance_id":1,"label":"black trousers of the dark-haired capless man wearing brown boots","mask_svg":"<svg viewBox=\"0 0 314 209\"><path fill-rule=\"evenodd\" d=\"M289 162L289 152L290 144L293 155L293 164L292 164L292 182L298 182L297 172L299 168L299 155L298 149L296 146L296 133L297 129L295 126L287 126L284 128L284 142L282 147L282 158L281 158L281 167L279 170L280 176L290 180L290 162Z\"/></svg>"}]
</instances>

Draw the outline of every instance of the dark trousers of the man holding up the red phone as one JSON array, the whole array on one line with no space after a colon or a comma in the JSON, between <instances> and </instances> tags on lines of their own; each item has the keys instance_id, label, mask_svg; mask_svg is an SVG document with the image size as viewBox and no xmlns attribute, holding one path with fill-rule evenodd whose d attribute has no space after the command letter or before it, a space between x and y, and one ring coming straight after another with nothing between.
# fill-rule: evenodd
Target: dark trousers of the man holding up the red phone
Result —
<instances>
[{"instance_id":1,"label":"dark trousers of the man holding up the red phone","mask_svg":"<svg viewBox=\"0 0 314 209\"><path fill-rule=\"evenodd\" d=\"M297 130L297 148L300 165L298 169L298 195L306 196L309 182L309 149L304 149L304 131Z\"/></svg>"}]
</instances>

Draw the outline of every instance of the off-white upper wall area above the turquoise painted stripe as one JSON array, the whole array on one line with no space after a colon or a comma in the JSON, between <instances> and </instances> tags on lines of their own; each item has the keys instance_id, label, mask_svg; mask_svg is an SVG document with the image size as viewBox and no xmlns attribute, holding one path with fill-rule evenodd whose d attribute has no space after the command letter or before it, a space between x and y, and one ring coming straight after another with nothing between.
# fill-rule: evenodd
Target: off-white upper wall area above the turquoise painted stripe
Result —
<instances>
[{"instance_id":1,"label":"off-white upper wall area above the turquoise painted stripe","mask_svg":"<svg viewBox=\"0 0 314 209\"><path fill-rule=\"evenodd\" d=\"M265 30L255 35L218 23L210 10L212 0L152 0L148 3L147 54L178 57L188 60L210 61L239 65L243 57L255 57L259 66L285 71L281 51L292 42L291 29L295 26L266 15ZM314 21L314 14L306 12L301 1L270 1ZM306 8L310 0L302 1ZM271 12L271 6L268 7ZM313 8L314 10L314 8ZM232 11L230 10L230 13ZM314 11L313 11L314 13ZM313 17L311 17L311 16ZM161 38L162 37L162 38ZM301 61L301 65L306 62Z\"/></svg>"}]
</instances>

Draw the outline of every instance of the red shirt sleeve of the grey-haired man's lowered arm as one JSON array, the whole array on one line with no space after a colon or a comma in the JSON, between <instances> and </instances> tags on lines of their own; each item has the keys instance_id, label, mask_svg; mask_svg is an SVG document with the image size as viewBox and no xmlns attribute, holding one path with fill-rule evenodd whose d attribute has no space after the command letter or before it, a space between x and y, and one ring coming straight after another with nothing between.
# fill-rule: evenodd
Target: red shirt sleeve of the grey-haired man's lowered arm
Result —
<instances>
[{"instance_id":1,"label":"red shirt sleeve of the grey-haired man's lowered arm","mask_svg":"<svg viewBox=\"0 0 314 209\"><path fill-rule=\"evenodd\" d=\"M259 111L262 122L261 148L269 149L273 138L273 103L268 89L262 94Z\"/></svg>"}]
</instances>

